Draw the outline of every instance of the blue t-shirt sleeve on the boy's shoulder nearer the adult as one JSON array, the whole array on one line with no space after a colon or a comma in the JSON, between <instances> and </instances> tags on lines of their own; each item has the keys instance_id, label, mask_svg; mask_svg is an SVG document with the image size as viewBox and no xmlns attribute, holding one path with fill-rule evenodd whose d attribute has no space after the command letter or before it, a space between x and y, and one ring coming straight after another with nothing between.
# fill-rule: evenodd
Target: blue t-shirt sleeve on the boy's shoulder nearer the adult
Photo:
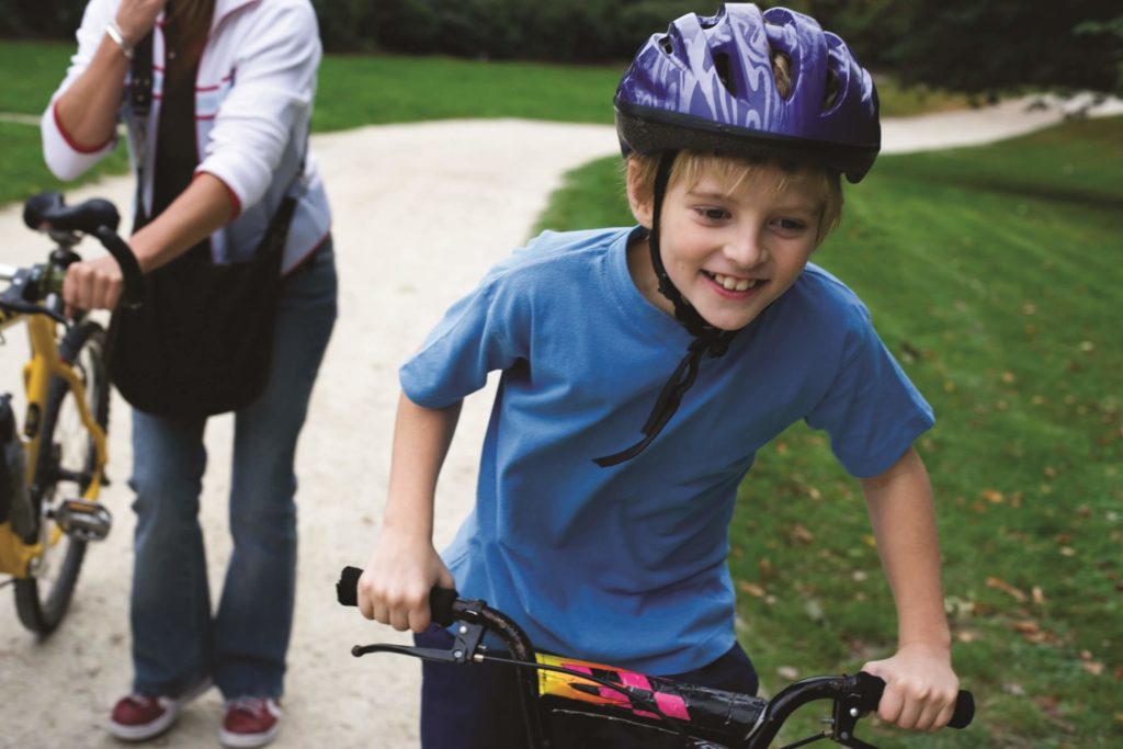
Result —
<instances>
[{"instance_id":1,"label":"blue t-shirt sleeve on the boy's shoulder nearer the adult","mask_svg":"<svg viewBox=\"0 0 1123 749\"><path fill-rule=\"evenodd\" d=\"M449 308L399 369L407 398L423 408L445 408L481 390L489 372L526 358L514 342L522 338L524 319L511 296L492 278Z\"/></svg>"}]
</instances>

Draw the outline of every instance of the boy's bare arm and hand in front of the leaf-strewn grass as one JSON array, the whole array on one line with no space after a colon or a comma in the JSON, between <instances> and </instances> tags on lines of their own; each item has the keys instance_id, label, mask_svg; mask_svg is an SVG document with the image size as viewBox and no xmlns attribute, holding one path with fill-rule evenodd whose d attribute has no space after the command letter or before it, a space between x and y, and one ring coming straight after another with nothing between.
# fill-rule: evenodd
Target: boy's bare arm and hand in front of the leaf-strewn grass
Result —
<instances>
[{"instance_id":1,"label":"boy's bare arm and hand in front of the leaf-strewn grass","mask_svg":"<svg viewBox=\"0 0 1123 749\"><path fill-rule=\"evenodd\" d=\"M882 566L897 609L897 651L862 670L885 679L877 715L931 731L951 719L959 679L943 612L932 487L910 448L888 471L861 482Z\"/></svg>"}]
</instances>

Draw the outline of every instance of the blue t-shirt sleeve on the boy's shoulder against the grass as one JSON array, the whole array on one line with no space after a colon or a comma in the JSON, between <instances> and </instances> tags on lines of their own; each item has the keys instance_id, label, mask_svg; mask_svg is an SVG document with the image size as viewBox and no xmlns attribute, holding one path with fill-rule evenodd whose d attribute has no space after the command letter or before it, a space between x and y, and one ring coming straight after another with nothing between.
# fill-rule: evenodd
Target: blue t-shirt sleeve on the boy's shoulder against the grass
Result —
<instances>
[{"instance_id":1,"label":"blue t-shirt sleeve on the boy's shoulder against the grass","mask_svg":"<svg viewBox=\"0 0 1123 749\"><path fill-rule=\"evenodd\" d=\"M839 371L806 422L830 435L834 456L850 474L868 478L892 467L935 419L866 308L857 304L850 317Z\"/></svg>"}]
</instances>

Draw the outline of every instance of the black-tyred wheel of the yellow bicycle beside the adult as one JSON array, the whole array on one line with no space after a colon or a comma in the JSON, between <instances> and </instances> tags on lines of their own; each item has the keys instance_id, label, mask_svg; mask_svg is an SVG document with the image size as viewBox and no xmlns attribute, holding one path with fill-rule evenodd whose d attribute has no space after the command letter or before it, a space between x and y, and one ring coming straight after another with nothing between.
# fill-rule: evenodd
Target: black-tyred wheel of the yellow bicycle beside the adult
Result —
<instances>
[{"instance_id":1,"label":"black-tyred wheel of the yellow bicycle beside the adult","mask_svg":"<svg viewBox=\"0 0 1123 749\"><path fill-rule=\"evenodd\" d=\"M58 345L85 385L86 407L102 429L109 423L109 374L104 363L106 331L85 321L71 328ZM47 393L39 439L39 457L31 485L31 500L39 518L44 554L33 564L29 577L15 581L16 610L24 625L39 634L54 631L66 613L77 574L85 558L86 541L56 535L53 511L64 501L82 495L92 481L97 451L82 423L74 394L60 377Z\"/></svg>"}]
</instances>

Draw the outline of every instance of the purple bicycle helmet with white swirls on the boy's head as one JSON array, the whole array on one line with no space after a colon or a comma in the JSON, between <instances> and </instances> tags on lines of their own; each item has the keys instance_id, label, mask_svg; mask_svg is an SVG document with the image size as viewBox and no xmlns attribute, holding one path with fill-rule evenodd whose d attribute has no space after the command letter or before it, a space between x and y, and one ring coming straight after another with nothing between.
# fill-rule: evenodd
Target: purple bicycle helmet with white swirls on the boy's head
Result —
<instances>
[{"instance_id":1,"label":"purple bicycle helmet with white swirls on the boy's head","mask_svg":"<svg viewBox=\"0 0 1123 749\"><path fill-rule=\"evenodd\" d=\"M773 76L776 53L791 61L786 97ZM769 156L858 182L882 144L869 73L841 38L786 8L725 3L716 16L678 18L636 54L614 103L624 154Z\"/></svg>"}]
</instances>

